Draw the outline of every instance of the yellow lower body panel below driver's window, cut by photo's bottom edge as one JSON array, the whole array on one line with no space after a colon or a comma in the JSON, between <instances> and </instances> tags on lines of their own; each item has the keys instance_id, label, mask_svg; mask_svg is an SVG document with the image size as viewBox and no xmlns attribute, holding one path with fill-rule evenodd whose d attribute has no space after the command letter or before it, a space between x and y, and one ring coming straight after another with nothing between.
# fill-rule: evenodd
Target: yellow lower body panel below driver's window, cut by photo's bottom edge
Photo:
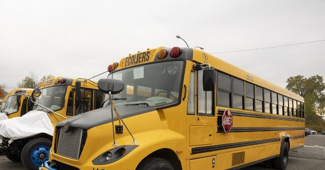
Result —
<instances>
[{"instance_id":1,"label":"yellow lower body panel below driver's window, cut by photo's bottom edge","mask_svg":"<svg viewBox=\"0 0 325 170\"><path fill-rule=\"evenodd\" d=\"M189 160L190 170L209 170L216 169L216 156Z\"/></svg>"}]
</instances>

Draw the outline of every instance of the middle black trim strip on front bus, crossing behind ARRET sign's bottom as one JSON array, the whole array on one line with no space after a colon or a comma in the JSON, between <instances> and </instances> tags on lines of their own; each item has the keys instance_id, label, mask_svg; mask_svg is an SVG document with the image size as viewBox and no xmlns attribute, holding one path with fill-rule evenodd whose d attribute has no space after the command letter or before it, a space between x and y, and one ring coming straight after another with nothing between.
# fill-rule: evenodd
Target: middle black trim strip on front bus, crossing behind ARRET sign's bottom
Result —
<instances>
[{"instance_id":1,"label":"middle black trim strip on front bus, crossing behind ARRET sign's bottom","mask_svg":"<svg viewBox=\"0 0 325 170\"><path fill-rule=\"evenodd\" d=\"M225 133L223 127L218 127L217 129L217 133ZM282 131L304 129L304 127L233 127L230 132Z\"/></svg>"}]
</instances>

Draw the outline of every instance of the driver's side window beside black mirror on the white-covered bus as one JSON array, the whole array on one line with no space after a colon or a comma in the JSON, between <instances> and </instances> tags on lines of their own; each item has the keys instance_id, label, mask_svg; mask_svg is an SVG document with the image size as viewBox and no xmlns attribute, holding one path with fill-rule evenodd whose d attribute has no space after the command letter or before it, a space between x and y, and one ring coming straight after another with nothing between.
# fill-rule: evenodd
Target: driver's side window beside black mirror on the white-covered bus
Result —
<instances>
[{"instance_id":1,"label":"driver's side window beside black mirror on the white-covered bus","mask_svg":"<svg viewBox=\"0 0 325 170\"><path fill-rule=\"evenodd\" d=\"M82 101L76 108L76 115L92 110L92 90L81 88Z\"/></svg>"}]
</instances>

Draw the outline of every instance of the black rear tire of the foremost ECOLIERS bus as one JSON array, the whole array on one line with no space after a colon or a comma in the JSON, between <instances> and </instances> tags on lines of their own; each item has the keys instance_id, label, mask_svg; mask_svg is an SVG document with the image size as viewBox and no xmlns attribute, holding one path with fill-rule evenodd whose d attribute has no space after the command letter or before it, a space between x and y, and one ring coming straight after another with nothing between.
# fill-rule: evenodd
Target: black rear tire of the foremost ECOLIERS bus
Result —
<instances>
[{"instance_id":1,"label":"black rear tire of the foremost ECOLIERS bus","mask_svg":"<svg viewBox=\"0 0 325 170\"><path fill-rule=\"evenodd\" d=\"M284 170L289 161L289 149L286 142L282 143L280 155L273 159L274 167L276 169Z\"/></svg>"}]
</instances>

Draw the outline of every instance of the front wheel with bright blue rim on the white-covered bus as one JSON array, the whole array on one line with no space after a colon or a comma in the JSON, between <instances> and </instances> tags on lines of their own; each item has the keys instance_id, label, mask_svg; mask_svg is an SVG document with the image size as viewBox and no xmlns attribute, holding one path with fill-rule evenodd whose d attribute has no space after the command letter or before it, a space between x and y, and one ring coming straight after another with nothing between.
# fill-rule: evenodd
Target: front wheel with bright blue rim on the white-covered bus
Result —
<instances>
[{"instance_id":1,"label":"front wheel with bright blue rim on the white-covered bus","mask_svg":"<svg viewBox=\"0 0 325 170\"><path fill-rule=\"evenodd\" d=\"M37 138L29 141L21 151L21 162L26 169L38 169L49 159L52 141L46 138Z\"/></svg>"}]
</instances>

